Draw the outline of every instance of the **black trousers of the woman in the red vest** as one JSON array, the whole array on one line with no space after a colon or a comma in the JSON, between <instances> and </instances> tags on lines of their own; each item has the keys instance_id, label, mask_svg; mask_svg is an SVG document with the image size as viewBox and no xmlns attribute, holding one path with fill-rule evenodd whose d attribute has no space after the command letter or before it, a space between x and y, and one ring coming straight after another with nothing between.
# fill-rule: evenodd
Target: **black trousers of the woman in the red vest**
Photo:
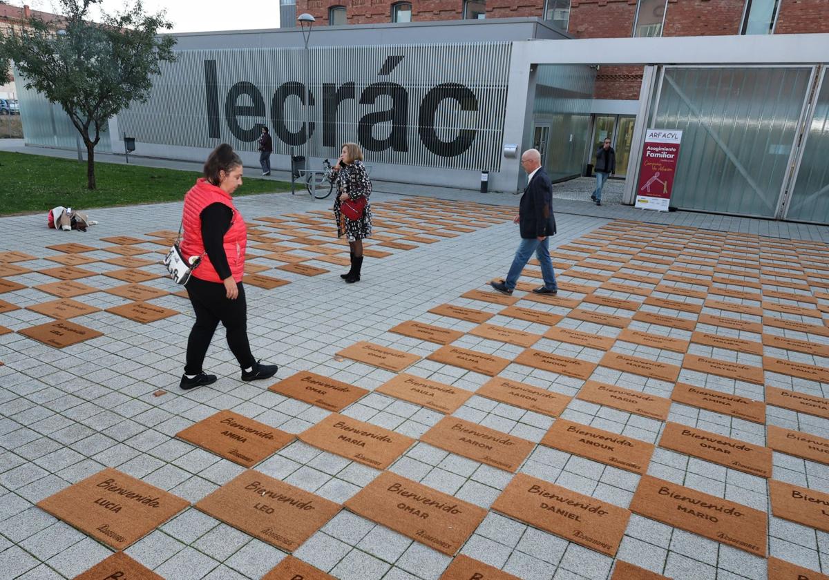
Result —
<instances>
[{"instance_id":1,"label":"black trousers of the woman in the red vest","mask_svg":"<svg viewBox=\"0 0 829 580\"><path fill-rule=\"evenodd\" d=\"M196 323L187 339L187 365L185 375L201 373L207 347L216 332L219 322L225 326L227 332L227 346L235 355L243 369L253 366L256 362L250 354L248 342L248 307L245 302L245 288L239 286L239 297L229 300L225 293L225 285L219 282L206 282L196 277L187 282L187 294L196 312Z\"/></svg>"}]
</instances>

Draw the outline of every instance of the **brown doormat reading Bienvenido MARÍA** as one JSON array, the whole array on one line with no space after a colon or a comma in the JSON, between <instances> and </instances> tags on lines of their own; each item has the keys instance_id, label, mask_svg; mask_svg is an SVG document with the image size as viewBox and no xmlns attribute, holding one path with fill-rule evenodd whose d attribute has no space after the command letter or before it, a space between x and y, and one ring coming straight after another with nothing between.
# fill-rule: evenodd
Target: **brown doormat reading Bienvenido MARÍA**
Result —
<instances>
[{"instance_id":1,"label":"brown doormat reading Bienvenido MAR\u00cdA","mask_svg":"<svg viewBox=\"0 0 829 580\"><path fill-rule=\"evenodd\" d=\"M390 466L414 443L411 437L339 413L331 413L298 437L308 445L375 469Z\"/></svg>"}]
</instances>

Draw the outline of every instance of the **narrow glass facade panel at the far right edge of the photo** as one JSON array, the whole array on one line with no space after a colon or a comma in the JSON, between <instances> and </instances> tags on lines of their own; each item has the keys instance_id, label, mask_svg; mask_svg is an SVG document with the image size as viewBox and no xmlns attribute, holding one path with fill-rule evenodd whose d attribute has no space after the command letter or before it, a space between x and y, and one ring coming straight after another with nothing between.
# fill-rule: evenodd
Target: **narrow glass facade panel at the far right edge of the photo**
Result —
<instances>
[{"instance_id":1,"label":"narrow glass facade panel at the far right edge of the photo","mask_svg":"<svg viewBox=\"0 0 829 580\"><path fill-rule=\"evenodd\" d=\"M807 125L806 144L797 181L789 202L788 220L829 223L829 78L824 70L812 123Z\"/></svg>"}]
</instances>

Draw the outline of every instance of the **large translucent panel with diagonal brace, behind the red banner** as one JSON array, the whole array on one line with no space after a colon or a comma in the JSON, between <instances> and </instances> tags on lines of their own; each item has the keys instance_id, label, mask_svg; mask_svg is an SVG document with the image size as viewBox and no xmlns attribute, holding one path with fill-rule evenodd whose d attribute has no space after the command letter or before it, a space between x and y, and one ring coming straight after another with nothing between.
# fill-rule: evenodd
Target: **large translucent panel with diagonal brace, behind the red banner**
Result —
<instances>
[{"instance_id":1,"label":"large translucent panel with diagonal brace, behind the red banner","mask_svg":"<svg viewBox=\"0 0 829 580\"><path fill-rule=\"evenodd\" d=\"M651 127L683 132L671 205L773 217L811 73L667 67Z\"/></svg>"}]
</instances>

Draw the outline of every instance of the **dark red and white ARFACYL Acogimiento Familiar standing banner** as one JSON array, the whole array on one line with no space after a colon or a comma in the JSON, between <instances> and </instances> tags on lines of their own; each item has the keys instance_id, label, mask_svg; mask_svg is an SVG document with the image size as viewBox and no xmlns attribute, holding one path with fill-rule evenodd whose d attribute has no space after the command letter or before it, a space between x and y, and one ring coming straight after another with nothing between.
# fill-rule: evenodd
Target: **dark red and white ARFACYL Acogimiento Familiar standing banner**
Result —
<instances>
[{"instance_id":1,"label":"dark red and white ARFACYL Acogimiento Familiar standing banner","mask_svg":"<svg viewBox=\"0 0 829 580\"><path fill-rule=\"evenodd\" d=\"M643 210L668 210L681 139L681 131L647 129L642 165L639 167L636 207Z\"/></svg>"}]
</instances>

